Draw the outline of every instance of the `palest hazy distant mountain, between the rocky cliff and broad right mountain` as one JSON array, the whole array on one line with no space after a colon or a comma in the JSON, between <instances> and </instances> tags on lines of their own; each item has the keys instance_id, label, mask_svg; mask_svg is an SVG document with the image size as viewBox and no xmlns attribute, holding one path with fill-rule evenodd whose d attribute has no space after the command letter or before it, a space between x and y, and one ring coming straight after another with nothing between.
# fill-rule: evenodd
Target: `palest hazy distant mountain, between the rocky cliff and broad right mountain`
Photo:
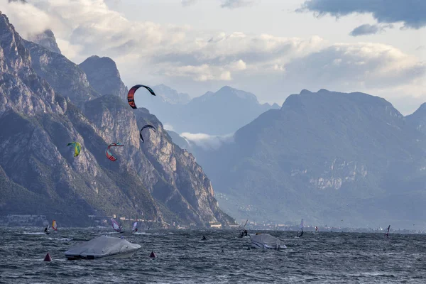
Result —
<instances>
[{"instance_id":1,"label":"palest hazy distant mountain, between the rocky cliff and broad right mountain","mask_svg":"<svg viewBox=\"0 0 426 284\"><path fill-rule=\"evenodd\" d=\"M155 86L153 90L158 98L139 96L136 104L143 103L178 133L226 135L234 133L264 111L279 108L278 104L259 104L254 94L227 86L194 99L164 85Z\"/></svg>"}]
</instances>

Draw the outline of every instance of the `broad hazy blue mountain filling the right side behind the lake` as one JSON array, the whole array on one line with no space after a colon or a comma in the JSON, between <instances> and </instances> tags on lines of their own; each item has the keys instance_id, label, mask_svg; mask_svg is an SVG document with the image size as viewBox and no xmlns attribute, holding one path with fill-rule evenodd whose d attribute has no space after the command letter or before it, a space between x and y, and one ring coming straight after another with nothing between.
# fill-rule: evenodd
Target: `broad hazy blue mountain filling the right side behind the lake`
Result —
<instances>
[{"instance_id":1,"label":"broad hazy blue mountain filling the right side behind the lake","mask_svg":"<svg viewBox=\"0 0 426 284\"><path fill-rule=\"evenodd\" d=\"M418 125L379 97L303 90L197 161L236 219L409 227L426 224Z\"/></svg>"}]
</instances>

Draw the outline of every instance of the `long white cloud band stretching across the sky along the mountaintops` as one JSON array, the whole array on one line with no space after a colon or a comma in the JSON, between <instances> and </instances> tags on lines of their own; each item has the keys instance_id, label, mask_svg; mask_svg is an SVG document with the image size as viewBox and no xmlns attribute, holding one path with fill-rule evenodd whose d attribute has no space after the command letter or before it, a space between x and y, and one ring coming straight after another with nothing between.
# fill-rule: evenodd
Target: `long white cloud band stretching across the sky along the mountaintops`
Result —
<instances>
[{"instance_id":1,"label":"long white cloud band stretching across the sky along the mountaintops","mask_svg":"<svg viewBox=\"0 0 426 284\"><path fill-rule=\"evenodd\" d=\"M153 84L175 82L185 92L205 92L231 81L261 101L278 103L301 89L362 91L386 98L425 95L425 63L390 45L330 44L316 35L212 33L130 21L102 0L0 1L24 37L52 28L64 55L77 63L95 54L109 56L126 84L143 78Z\"/></svg>"}]
</instances>

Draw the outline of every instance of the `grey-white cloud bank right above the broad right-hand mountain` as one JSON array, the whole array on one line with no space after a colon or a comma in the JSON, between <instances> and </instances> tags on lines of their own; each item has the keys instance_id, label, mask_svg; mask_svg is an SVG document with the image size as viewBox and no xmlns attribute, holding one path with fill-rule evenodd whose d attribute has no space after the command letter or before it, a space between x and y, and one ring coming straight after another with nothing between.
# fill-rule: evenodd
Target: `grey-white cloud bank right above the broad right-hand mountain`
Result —
<instances>
[{"instance_id":1,"label":"grey-white cloud bank right above the broad right-hand mountain","mask_svg":"<svg viewBox=\"0 0 426 284\"><path fill-rule=\"evenodd\" d=\"M411 84L419 94L425 86L426 63L390 45L378 43L334 44L293 60L285 66L287 82L311 89L393 90ZM301 79L299 76L303 74ZM401 94L400 94L401 95Z\"/></svg>"}]
</instances>

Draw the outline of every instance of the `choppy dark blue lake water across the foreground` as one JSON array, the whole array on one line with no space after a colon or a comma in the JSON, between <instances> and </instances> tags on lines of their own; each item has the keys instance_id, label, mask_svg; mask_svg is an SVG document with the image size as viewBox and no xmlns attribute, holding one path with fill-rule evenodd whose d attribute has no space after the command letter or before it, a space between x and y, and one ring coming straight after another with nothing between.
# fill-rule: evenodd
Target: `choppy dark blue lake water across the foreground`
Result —
<instances>
[{"instance_id":1,"label":"choppy dark blue lake water across the foreground","mask_svg":"<svg viewBox=\"0 0 426 284\"><path fill-rule=\"evenodd\" d=\"M268 231L288 246L279 252L248 250L238 231L150 230L125 236L142 246L133 258L67 261L71 246L109 230L42 230L0 228L0 283L426 283L425 235Z\"/></svg>"}]
</instances>

